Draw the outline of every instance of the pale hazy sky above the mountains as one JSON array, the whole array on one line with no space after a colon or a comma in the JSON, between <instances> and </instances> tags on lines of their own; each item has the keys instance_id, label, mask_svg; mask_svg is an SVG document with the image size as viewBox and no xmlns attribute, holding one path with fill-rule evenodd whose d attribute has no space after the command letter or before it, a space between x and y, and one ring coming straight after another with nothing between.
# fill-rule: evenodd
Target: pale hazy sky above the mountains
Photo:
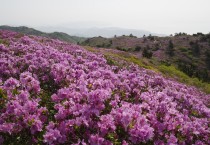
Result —
<instances>
[{"instance_id":1,"label":"pale hazy sky above the mountains","mask_svg":"<svg viewBox=\"0 0 210 145\"><path fill-rule=\"evenodd\" d=\"M210 0L0 0L0 25L210 32Z\"/></svg>"}]
</instances>

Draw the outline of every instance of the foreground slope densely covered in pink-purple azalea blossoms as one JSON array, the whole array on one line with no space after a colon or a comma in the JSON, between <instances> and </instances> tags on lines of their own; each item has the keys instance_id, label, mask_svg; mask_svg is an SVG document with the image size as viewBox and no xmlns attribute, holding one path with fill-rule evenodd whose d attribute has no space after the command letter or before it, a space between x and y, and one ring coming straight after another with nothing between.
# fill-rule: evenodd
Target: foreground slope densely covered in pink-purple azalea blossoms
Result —
<instances>
[{"instance_id":1,"label":"foreground slope densely covered in pink-purple azalea blossoms","mask_svg":"<svg viewBox=\"0 0 210 145\"><path fill-rule=\"evenodd\" d=\"M194 87L58 40L0 40L0 144L210 144Z\"/></svg>"}]
</instances>

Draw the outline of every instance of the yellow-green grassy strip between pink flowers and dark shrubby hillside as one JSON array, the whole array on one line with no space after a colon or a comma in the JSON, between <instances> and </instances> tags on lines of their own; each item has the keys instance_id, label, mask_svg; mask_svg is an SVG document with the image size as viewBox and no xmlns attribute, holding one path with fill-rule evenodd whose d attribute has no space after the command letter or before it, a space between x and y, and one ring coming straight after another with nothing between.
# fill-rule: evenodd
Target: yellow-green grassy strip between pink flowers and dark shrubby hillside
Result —
<instances>
[{"instance_id":1,"label":"yellow-green grassy strip between pink flowers and dark shrubby hillside","mask_svg":"<svg viewBox=\"0 0 210 145\"><path fill-rule=\"evenodd\" d=\"M195 86L200 90L210 94L210 84L204 83L199 81L197 78L191 78L185 73L178 70L173 65L166 66L163 64L158 63L155 59L145 59L145 58L137 58L132 53L121 52L117 50L110 50L110 49L97 49L89 46L85 46L85 48L89 51L95 53L102 53L107 62L110 65L117 65L117 66L126 66L131 63L137 64L140 67L153 70L155 72L163 74L165 77L175 79L179 82L185 83L190 86Z\"/></svg>"}]
</instances>

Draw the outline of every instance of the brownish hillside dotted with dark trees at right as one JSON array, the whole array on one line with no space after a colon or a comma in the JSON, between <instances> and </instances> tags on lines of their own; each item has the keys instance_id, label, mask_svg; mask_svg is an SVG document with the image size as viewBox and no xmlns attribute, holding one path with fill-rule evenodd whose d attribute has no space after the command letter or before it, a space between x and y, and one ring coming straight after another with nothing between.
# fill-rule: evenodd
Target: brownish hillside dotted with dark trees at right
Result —
<instances>
[{"instance_id":1,"label":"brownish hillside dotted with dark trees at right","mask_svg":"<svg viewBox=\"0 0 210 145\"><path fill-rule=\"evenodd\" d=\"M150 35L143 38L133 35L93 37L81 45L130 52L139 59L147 57L158 62L158 65L173 65L190 77L210 82L210 34L179 33L170 37Z\"/></svg>"}]
</instances>

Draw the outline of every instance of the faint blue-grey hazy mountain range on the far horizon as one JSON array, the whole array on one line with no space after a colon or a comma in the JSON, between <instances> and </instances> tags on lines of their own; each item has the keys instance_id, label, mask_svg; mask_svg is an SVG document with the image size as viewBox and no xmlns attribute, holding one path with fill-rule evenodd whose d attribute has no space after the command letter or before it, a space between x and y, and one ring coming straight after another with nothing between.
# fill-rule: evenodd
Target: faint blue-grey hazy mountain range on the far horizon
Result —
<instances>
[{"instance_id":1,"label":"faint blue-grey hazy mountain range on the far horizon","mask_svg":"<svg viewBox=\"0 0 210 145\"><path fill-rule=\"evenodd\" d=\"M39 30L45 32L53 32L53 31L61 31L68 33L69 35L81 36L81 37L97 37L102 36L106 38L122 35L130 35L133 34L137 37L143 37L144 35L148 36L150 34L155 36L165 36L163 34L156 34L145 30L137 30L137 29L125 29L118 27L105 27L105 28L67 28L67 27L39 27Z\"/></svg>"}]
</instances>

